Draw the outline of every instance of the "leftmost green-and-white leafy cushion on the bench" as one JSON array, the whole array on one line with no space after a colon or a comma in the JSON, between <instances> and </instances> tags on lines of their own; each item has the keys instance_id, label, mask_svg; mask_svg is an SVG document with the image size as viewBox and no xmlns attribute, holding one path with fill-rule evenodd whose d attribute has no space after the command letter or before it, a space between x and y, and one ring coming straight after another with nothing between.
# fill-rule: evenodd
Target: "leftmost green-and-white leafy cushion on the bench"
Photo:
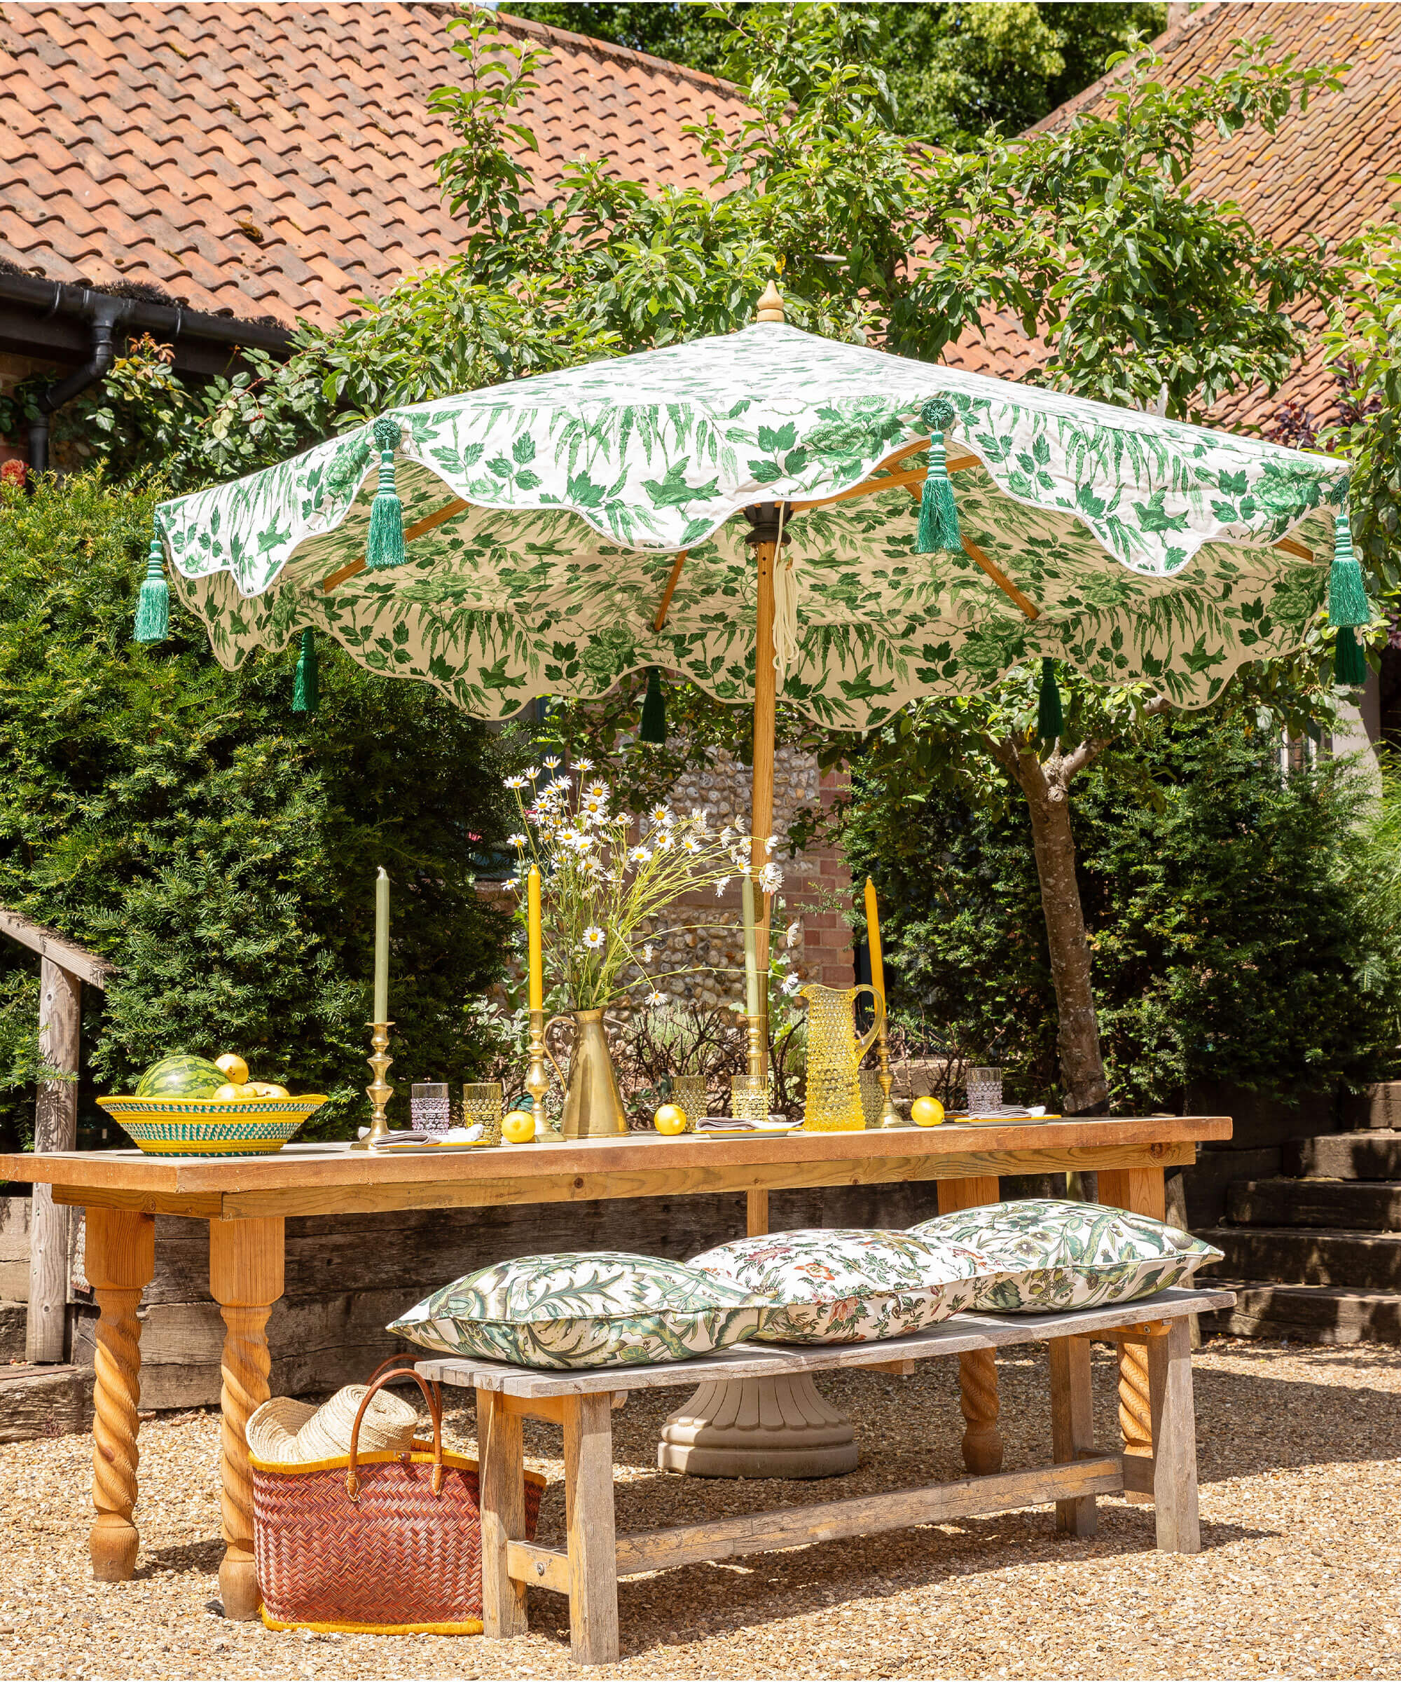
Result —
<instances>
[{"instance_id":1,"label":"leftmost green-and-white leafy cushion on the bench","mask_svg":"<svg viewBox=\"0 0 1401 1682\"><path fill-rule=\"evenodd\" d=\"M442 1285L389 1330L535 1367L686 1361L753 1336L765 1305L679 1262L612 1250L516 1256Z\"/></svg>"}]
</instances>

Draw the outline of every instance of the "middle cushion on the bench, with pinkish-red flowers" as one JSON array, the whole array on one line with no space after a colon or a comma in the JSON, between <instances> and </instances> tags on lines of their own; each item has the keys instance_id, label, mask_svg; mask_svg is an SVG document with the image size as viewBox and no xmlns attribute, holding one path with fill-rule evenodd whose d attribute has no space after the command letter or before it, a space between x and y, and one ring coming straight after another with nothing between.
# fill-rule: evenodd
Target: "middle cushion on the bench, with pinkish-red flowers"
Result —
<instances>
[{"instance_id":1,"label":"middle cushion on the bench, with pinkish-red flowers","mask_svg":"<svg viewBox=\"0 0 1401 1682\"><path fill-rule=\"evenodd\" d=\"M975 1250L913 1233L812 1228L691 1256L691 1267L767 1297L753 1336L770 1344L863 1344L918 1332L972 1305L1001 1272Z\"/></svg>"}]
</instances>

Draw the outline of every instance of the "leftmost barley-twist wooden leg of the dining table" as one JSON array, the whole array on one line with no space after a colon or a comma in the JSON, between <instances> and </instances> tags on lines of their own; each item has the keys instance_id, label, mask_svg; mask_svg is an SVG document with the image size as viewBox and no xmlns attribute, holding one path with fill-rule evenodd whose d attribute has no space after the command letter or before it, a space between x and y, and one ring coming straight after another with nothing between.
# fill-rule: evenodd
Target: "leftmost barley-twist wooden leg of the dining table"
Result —
<instances>
[{"instance_id":1,"label":"leftmost barley-twist wooden leg of the dining table","mask_svg":"<svg viewBox=\"0 0 1401 1682\"><path fill-rule=\"evenodd\" d=\"M155 1216L87 1209L84 1272L101 1310L93 1386L93 1576L124 1583L136 1569L136 1425L141 1403L141 1322L136 1309L156 1270Z\"/></svg>"}]
</instances>

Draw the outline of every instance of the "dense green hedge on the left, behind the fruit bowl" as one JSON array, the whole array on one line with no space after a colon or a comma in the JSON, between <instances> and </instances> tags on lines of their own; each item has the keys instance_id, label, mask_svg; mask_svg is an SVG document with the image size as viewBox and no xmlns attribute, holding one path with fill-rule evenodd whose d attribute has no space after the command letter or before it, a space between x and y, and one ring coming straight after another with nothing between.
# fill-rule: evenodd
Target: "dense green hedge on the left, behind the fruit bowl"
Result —
<instances>
[{"instance_id":1,"label":"dense green hedge on the left, behind the fruit bowl","mask_svg":"<svg viewBox=\"0 0 1401 1682\"><path fill-rule=\"evenodd\" d=\"M131 641L153 495L98 474L0 491L0 905L116 965L86 989L81 1119L172 1051L239 1051L254 1075L362 1119L375 868L394 880L394 1108L409 1082L471 1078L469 999L503 920L471 860L505 833L493 738L434 691L323 649L321 711L291 715L293 651L220 671L175 602ZM37 960L0 952L0 1125L27 1139Z\"/></svg>"}]
</instances>

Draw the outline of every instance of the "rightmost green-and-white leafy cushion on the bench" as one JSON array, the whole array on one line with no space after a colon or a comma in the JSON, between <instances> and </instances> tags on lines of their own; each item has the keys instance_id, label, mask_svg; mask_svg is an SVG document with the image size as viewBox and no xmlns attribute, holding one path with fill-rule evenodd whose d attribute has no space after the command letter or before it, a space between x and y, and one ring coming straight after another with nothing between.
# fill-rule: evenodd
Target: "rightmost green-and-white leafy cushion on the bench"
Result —
<instances>
[{"instance_id":1,"label":"rightmost green-and-white leafy cushion on the bench","mask_svg":"<svg viewBox=\"0 0 1401 1682\"><path fill-rule=\"evenodd\" d=\"M1147 1214L1100 1203L1023 1198L920 1221L927 1243L975 1245L1002 1272L979 1282L974 1307L1051 1314L1135 1302L1191 1280L1221 1251Z\"/></svg>"}]
</instances>

